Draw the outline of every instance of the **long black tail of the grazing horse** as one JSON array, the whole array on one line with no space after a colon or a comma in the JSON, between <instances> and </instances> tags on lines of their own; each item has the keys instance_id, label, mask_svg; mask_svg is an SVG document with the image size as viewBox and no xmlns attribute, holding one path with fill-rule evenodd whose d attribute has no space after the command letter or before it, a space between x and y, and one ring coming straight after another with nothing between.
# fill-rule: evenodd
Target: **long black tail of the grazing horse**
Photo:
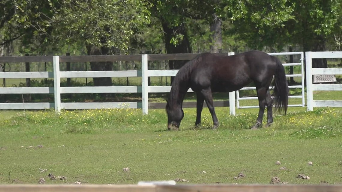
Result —
<instances>
[{"instance_id":1,"label":"long black tail of the grazing horse","mask_svg":"<svg viewBox=\"0 0 342 192\"><path fill-rule=\"evenodd\" d=\"M280 60L277 57L273 57L276 61L276 73L274 74L274 106L275 110L280 112L283 111L284 115L286 115L288 102L289 102L289 85L287 83L285 68L281 64Z\"/></svg>"}]
</instances>

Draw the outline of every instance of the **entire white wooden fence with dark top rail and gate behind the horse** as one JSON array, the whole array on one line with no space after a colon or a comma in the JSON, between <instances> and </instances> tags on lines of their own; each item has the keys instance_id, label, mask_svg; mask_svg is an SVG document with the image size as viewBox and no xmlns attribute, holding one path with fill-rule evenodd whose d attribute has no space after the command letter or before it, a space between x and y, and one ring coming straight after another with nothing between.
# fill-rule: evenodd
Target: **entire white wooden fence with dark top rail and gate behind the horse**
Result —
<instances>
[{"instance_id":1,"label":"entire white wooden fence with dark top rail and gate behind the horse","mask_svg":"<svg viewBox=\"0 0 342 192\"><path fill-rule=\"evenodd\" d=\"M269 53L270 55L301 55L301 63L288 63L284 66L300 65L301 74L287 75L287 77L301 77L302 85L290 86L290 88L301 88L301 95L294 95L291 98L302 98L302 104L290 105L290 107L305 106L304 99L304 67L303 67L303 52L290 53ZM173 60L186 60L188 55L181 54ZM228 55L234 55L233 52ZM165 55L164 55L165 56ZM166 57L159 55L131 55L131 56L42 56L42 57L15 57L5 58L0 57L0 62L53 62L53 72L0 72L0 78L54 78L54 87L1 87L0 94L54 94L54 103L49 102L17 102L17 103L0 103L0 109L47 109L54 108L56 111L61 109L98 109L98 108L142 108L143 113L148 113L148 93L167 93L170 92L171 86L148 86L148 77L165 77L175 76L178 70L148 70L147 65L149 60L167 60ZM172 56L173 57L173 56ZM312 91L320 90L342 90L340 84L329 85L313 85L313 74L342 74L342 69L312 69L312 58L341 58L341 52L307 52L306 53L306 70L307 70L307 107L312 110L313 107L319 106L334 106L342 107L342 101L313 101ZM169 58L169 57L168 57ZM131 71L60 71L61 62L74 61L120 61L131 60L141 61L142 70ZM81 61L80 61L81 60ZM170 59L172 60L172 59ZM82 86L82 87L61 87L60 78L91 78L91 77L142 77L142 86ZM245 87L241 90L251 90L255 87ZM192 92L191 89L188 92ZM142 93L142 102L61 102L61 94L68 93ZM237 108L253 108L258 106L239 106L240 100L257 99L257 97L240 97L236 91ZM229 108L230 114L235 114L235 92L229 93Z\"/></svg>"}]
</instances>

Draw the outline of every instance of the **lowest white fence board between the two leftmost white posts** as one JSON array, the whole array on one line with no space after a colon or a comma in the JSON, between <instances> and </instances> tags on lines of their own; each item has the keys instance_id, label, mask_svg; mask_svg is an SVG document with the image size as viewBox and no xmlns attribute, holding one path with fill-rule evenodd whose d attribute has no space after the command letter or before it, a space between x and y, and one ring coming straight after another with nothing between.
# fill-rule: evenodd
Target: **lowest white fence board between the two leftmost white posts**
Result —
<instances>
[{"instance_id":1,"label":"lowest white fence board between the two leftmost white posts","mask_svg":"<svg viewBox=\"0 0 342 192\"><path fill-rule=\"evenodd\" d=\"M141 108L141 102L62 102L62 109Z\"/></svg>"}]
</instances>

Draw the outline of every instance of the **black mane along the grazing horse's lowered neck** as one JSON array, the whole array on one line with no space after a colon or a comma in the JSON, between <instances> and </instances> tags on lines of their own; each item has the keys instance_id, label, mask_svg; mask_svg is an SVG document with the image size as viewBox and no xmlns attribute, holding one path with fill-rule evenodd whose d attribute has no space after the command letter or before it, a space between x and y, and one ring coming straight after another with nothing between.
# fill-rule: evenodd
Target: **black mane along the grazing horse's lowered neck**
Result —
<instances>
[{"instance_id":1,"label":"black mane along the grazing horse's lowered neck","mask_svg":"<svg viewBox=\"0 0 342 192\"><path fill-rule=\"evenodd\" d=\"M191 72L194 70L194 68L202 61L203 55L207 55L209 53L202 53L197 55L194 59L187 61L177 72L176 76L174 77L172 81L172 87L171 87L171 92L169 95L169 101L173 101L179 97L179 88L181 86L184 86L186 81L189 80L191 76ZM166 110L168 110L169 106L169 101L168 104L166 105Z\"/></svg>"}]
</instances>

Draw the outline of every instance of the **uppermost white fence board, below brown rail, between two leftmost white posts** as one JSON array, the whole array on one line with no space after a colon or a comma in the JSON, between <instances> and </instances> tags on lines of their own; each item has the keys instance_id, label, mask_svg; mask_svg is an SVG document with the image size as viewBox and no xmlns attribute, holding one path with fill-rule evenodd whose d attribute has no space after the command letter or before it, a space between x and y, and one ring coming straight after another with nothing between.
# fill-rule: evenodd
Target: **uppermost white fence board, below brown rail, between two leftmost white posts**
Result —
<instances>
[{"instance_id":1,"label":"uppermost white fence board, below brown rail, between two leftmost white posts","mask_svg":"<svg viewBox=\"0 0 342 192\"><path fill-rule=\"evenodd\" d=\"M141 71L61 71L61 78L141 77Z\"/></svg>"}]
</instances>

